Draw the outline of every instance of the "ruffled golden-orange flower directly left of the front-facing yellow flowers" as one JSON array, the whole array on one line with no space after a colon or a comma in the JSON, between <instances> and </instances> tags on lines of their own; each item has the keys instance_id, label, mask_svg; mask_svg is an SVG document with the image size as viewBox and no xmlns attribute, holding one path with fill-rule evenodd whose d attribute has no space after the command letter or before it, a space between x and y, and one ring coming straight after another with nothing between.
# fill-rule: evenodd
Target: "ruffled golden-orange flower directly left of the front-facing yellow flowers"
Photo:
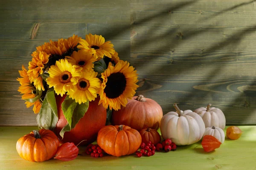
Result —
<instances>
[{"instance_id":1,"label":"ruffled golden-orange flower directly left of the front-facing yellow flowers","mask_svg":"<svg viewBox=\"0 0 256 170\"><path fill-rule=\"evenodd\" d=\"M37 51L34 51L31 55L33 58L29 62L29 71L27 71L29 80L31 83L34 82L36 84L35 86L38 90L42 89L44 91L43 79L40 78L40 75L44 73L44 65L49 61L49 55L45 52Z\"/></svg>"}]
</instances>

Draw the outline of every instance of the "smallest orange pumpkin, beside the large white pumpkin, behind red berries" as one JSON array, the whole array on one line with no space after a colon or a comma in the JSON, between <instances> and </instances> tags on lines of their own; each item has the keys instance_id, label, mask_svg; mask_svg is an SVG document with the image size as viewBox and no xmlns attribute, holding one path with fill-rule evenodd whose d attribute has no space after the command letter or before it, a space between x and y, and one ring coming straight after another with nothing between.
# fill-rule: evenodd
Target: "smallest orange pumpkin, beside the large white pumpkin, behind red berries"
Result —
<instances>
[{"instance_id":1,"label":"smallest orange pumpkin, beside the large white pumpkin, behind red berries","mask_svg":"<svg viewBox=\"0 0 256 170\"><path fill-rule=\"evenodd\" d=\"M140 135L142 138L142 142L144 143L151 141L152 144L157 145L161 142L161 136L155 129L145 128L143 130L140 130Z\"/></svg>"}]
</instances>

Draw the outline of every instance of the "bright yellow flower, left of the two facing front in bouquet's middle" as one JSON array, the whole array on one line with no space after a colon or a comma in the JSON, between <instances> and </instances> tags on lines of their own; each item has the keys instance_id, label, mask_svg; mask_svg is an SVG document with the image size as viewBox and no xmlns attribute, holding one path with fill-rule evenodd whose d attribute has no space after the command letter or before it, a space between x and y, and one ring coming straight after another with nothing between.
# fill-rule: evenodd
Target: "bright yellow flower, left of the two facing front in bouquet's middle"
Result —
<instances>
[{"instance_id":1,"label":"bright yellow flower, left of the two facing front in bouquet's middle","mask_svg":"<svg viewBox=\"0 0 256 170\"><path fill-rule=\"evenodd\" d=\"M49 68L48 73L47 84L49 88L54 87L56 94L61 96L73 90L81 74L79 70L72 67L67 59L56 61L55 65Z\"/></svg>"}]
</instances>

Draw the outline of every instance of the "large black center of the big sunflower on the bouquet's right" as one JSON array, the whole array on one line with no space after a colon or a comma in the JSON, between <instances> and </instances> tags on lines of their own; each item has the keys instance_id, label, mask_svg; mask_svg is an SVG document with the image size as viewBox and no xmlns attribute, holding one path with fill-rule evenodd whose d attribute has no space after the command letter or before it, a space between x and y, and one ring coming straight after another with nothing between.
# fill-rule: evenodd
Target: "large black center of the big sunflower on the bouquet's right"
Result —
<instances>
[{"instance_id":1,"label":"large black center of the big sunflower on the bouquet's right","mask_svg":"<svg viewBox=\"0 0 256 170\"><path fill-rule=\"evenodd\" d=\"M126 78L123 73L113 73L108 77L104 92L110 99L119 97L125 91Z\"/></svg>"}]
</instances>

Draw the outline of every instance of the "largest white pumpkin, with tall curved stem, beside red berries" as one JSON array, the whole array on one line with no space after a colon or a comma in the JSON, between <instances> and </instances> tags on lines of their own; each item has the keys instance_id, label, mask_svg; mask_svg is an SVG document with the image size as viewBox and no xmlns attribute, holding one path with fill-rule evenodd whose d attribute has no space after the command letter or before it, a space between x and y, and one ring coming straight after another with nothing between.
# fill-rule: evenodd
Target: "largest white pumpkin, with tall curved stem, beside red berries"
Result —
<instances>
[{"instance_id":1,"label":"largest white pumpkin, with tall curved stem, beside red berries","mask_svg":"<svg viewBox=\"0 0 256 170\"><path fill-rule=\"evenodd\" d=\"M163 139L172 139L177 145L187 145L198 142L204 135L203 119L190 110L180 111L176 103L176 112L166 113L160 123Z\"/></svg>"}]
</instances>

